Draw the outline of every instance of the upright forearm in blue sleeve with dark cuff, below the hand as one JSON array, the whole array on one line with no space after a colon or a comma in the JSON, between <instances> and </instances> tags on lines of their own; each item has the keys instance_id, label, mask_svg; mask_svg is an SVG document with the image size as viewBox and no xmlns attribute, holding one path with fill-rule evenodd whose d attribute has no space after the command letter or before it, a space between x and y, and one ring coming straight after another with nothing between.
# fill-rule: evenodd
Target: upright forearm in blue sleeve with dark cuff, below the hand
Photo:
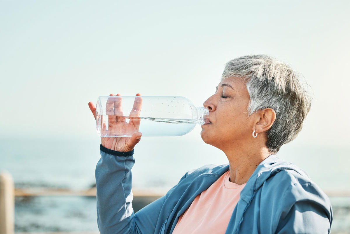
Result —
<instances>
[{"instance_id":1,"label":"upright forearm in blue sleeve with dark cuff, below the hand","mask_svg":"<svg viewBox=\"0 0 350 234\"><path fill-rule=\"evenodd\" d=\"M96 165L97 223L101 233L130 233L132 208L131 168L134 151L118 152L101 147ZM116 154L116 155L113 155Z\"/></svg>"}]
</instances>

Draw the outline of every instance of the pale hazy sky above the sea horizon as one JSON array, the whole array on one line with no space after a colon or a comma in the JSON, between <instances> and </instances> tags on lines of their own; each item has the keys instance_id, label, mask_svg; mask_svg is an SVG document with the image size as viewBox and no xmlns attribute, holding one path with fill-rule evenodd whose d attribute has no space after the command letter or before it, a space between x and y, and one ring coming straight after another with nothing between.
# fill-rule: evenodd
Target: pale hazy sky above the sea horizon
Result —
<instances>
[{"instance_id":1,"label":"pale hazy sky above the sea horizon","mask_svg":"<svg viewBox=\"0 0 350 234\"><path fill-rule=\"evenodd\" d=\"M87 105L98 96L202 106L226 62L267 54L313 90L293 144L346 146L349 10L349 1L0 0L0 138L98 142ZM180 138L201 142L200 131Z\"/></svg>"}]
</instances>

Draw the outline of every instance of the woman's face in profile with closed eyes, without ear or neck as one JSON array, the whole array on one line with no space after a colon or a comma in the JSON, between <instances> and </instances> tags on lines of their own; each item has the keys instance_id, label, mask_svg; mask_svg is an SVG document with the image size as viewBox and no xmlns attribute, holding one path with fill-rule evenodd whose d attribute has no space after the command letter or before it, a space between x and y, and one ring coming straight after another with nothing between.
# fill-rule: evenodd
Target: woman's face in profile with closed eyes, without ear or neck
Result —
<instances>
[{"instance_id":1,"label":"woman's face in profile with closed eyes, without ear or neck","mask_svg":"<svg viewBox=\"0 0 350 234\"><path fill-rule=\"evenodd\" d=\"M221 80L215 94L203 103L209 109L211 122L202 125L203 141L224 150L251 138L253 116L248 117L249 100L243 79L228 77Z\"/></svg>"}]
</instances>

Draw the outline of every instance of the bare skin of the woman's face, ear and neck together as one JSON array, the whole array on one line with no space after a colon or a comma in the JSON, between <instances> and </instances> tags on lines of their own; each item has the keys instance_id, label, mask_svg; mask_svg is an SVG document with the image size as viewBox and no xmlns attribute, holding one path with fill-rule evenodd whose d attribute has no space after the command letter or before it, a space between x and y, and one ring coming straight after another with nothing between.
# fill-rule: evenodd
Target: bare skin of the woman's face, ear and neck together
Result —
<instances>
[{"instance_id":1,"label":"bare skin of the woman's face, ear and neck together","mask_svg":"<svg viewBox=\"0 0 350 234\"><path fill-rule=\"evenodd\" d=\"M233 89L221 87L222 84L229 84ZM217 91L203 103L209 109L211 123L202 125L201 137L205 143L226 154L230 181L238 185L246 183L260 162L271 154L266 147L265 132L276 117L271 108L248 117L249 101L245 81L228 77L221 80ZM252 136L254 130L258 133L256 138Z\"/></svg>"}]
</instances>

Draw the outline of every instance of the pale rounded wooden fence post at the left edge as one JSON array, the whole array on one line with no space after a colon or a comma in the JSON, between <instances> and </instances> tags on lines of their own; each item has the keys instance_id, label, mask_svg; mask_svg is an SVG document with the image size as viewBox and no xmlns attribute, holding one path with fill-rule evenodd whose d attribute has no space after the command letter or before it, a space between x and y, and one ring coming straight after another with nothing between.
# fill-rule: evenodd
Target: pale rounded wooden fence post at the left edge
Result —
<instances>
[{"instance_id":1,"label":"pale rounded wooden fence post at the left edge","mask_svg":"<svg viewBox=\"0 0 350 234\"><path fill-rule=\"evenodd\" d=\"M15 196L13 179L8 172L0 173L0 233L14 233Z\"/></svg>"}]
</instances>

